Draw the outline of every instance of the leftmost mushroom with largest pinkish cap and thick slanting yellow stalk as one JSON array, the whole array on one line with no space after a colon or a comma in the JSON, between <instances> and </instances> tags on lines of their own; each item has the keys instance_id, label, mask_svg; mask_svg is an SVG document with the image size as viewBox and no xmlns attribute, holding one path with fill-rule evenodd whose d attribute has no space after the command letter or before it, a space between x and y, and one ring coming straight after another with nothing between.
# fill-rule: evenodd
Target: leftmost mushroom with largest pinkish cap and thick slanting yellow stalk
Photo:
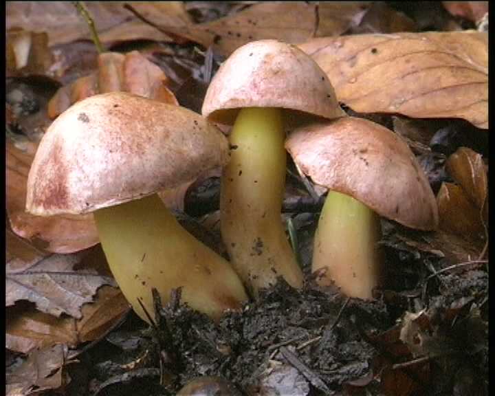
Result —
<instances>
[{"instance_id":1,"label":"leftmost mushroom with largest pinkish cap and thick slanting yellow stalk","mask_svg":"<svg viewBox=\"0 0 495 396\"><path fill-rule=\"evenodd\" d=\"M247 296L230 263L186 232L155 192L228 162L225 136L184 107L113 92L91 96L47 130L28 177L32 214L94 213L109 267L144 320L151 288L173 288L219 318Z\"/></svg>"}]
</instances>

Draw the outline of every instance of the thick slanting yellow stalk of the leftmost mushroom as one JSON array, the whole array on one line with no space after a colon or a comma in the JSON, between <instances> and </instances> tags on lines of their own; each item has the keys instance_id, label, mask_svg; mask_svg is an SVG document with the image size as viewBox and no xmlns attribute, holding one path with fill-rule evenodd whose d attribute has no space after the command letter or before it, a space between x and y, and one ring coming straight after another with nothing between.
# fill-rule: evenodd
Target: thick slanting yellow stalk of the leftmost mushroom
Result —
<instances>
[{"instance_id":1,"label":"thick slanting yellow stalk of the leftmost mushroom","mask_svg":"<svg viewBox=\"0 0 495 396\"><path fill-rule=\"evenodd\" d=\"M157 195L94 212L98 234L115 281L144 320L137 299L154 318L151 288L162 303L182 287L182 301L212 318L247 299L230 263L179 225Z\"/></svg>"}]
</instances>

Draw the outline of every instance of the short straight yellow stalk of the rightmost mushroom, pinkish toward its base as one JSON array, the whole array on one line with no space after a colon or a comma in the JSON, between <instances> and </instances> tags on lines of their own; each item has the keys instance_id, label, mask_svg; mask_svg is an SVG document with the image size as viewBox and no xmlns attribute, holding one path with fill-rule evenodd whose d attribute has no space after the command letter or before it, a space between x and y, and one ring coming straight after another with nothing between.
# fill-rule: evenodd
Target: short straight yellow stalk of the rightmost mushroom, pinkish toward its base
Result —
<instances>
[{"instance_id":1,"label":"short straight yellow stalk of the rightmost mushroom, pinkish toward its base","mask_svg":"<svg viewBox=\"0 0 495 396\"><path fill-rule=\"evenodd\" d=\"M371 299L380 274L380 217L349 195L329 191L314 239L313 272L320 285Z\"/></svg>"}]
</instances>

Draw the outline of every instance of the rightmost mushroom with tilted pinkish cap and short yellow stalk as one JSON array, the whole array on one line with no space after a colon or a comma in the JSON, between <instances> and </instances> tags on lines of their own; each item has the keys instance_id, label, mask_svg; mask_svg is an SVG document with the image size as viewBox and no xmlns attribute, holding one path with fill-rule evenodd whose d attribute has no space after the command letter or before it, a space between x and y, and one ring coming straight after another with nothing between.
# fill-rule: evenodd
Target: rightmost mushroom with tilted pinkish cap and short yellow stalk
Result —
<instances>
[{"instance_id":1,"label":"rightmost mushroom with tilted pinkish cap and short yellow stalk","mask_svg":"<svg viewBox=\"0 0 495 396\"><path fill-rule=\"evenodd\" d=\"M285 143L306 175L329 188L314 239L317 282L371 299L380 275L380 217L437 227L437 203L407 144L384 126L346 117L296 128Z\"/></svg>"}]
</instances>

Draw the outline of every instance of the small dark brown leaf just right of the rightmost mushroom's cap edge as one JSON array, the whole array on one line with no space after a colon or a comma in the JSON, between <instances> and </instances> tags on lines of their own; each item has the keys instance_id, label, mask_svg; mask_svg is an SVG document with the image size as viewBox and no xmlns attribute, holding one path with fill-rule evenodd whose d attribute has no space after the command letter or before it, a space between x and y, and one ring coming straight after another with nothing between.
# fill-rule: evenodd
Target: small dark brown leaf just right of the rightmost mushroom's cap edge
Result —
<instances>
[{"instance_id":1,"label":"small dark brown leaf just right of the rightmost mushroom's cap edge","mask_svg":"<svg viewBox=\"0 0 495 396\"><path fill-rule=\"evenodd\" d=\"M483 237L480 209L465 195L463 188L443 183L437 195L437 205L442 230L470 240Z\"/></svg>"}]
</instances>

